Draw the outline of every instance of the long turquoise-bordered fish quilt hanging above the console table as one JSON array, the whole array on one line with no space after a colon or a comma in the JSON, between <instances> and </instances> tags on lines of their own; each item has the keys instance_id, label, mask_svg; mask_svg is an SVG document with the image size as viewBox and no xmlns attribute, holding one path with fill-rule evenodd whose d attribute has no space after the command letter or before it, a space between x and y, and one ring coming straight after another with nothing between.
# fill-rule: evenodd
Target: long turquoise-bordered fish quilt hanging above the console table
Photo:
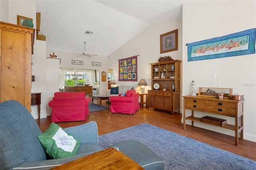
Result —
<instances>
[{"instance_id":1,"label":"long turquoise-bordered fish quilt hanging above the console table","mask_svg":"<svg viewBox=\"0 0 256 170\"><path fill-rule=\"evenodd\" d=\"M188 61L255 53L255 28L227 36L188 43Z\"/></svg>"}]
</instances>

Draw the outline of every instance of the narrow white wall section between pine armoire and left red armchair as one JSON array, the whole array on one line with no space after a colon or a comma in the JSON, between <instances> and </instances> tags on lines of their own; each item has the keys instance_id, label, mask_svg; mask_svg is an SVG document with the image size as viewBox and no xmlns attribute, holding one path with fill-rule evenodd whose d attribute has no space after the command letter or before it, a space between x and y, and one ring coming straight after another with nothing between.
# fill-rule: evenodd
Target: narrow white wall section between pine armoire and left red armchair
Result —
<instances>
[{"instance_id":1,"label":"narrow white wall section between pine armoire and left red armchair","mask_svg":"<svg viewBox=\"0 0 256 170\"><path fill-rule=\"evenodd\" d=\"M41 92L40 118L46 117L46 42L36 40L34 43L34 55L32 55L32 75L35 81L32 82L31 92ZM38 106L31 106L31 114L38 119Z\"/></svg>"}]
</instances>

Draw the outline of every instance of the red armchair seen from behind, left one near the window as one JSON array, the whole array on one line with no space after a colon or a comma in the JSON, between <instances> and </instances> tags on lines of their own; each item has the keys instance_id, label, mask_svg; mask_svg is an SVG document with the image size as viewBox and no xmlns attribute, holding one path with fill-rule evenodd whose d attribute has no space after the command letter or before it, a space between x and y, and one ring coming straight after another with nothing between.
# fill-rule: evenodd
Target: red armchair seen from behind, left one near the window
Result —
<instances>
[{"instance_id":1,"label":"red armchair seen from behind, left one near the window","mask_svg":"<svg viewBox=\"0 0 256 170\"><path fill-rule=\"evenodd\" d=\"M51 122L84 121L89 115L88 105L90 97L85 97L84 92L56 92L52 101Z\"/></svg>"}]
</instances>

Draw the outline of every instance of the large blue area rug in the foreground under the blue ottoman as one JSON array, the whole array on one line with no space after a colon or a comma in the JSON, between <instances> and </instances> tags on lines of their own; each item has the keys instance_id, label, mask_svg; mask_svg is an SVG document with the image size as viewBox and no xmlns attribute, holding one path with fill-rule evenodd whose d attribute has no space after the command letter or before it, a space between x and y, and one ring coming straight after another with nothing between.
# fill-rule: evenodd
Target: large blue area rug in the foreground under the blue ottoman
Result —
<instances>
[{"instance_id":1,"label":"large blue area rug in the foreground under the blue ottoman","mask_svg":"<svg viewBox=\"0 0 256 170\"><path fill-rule=\"evenodd\" d=\"M99 144L107 148L129 139L158 154L166 170L256 170L256 161L146 123L100 135Z\"/></svg>"}]
</instances>

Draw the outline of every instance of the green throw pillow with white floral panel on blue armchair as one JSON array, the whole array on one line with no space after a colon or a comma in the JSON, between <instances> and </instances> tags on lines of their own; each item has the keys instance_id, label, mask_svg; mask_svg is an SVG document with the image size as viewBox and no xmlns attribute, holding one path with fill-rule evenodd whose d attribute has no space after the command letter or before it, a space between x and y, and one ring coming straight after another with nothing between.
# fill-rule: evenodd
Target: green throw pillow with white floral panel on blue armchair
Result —
<instances>
[{"instance_id":1,"label":"green throw pillow with white floral panel on blue armchair","mask_svg":"<svg viewBox=\"0 0 256 170\"><path fill-rule=\"evenodd\" d=\"M54 159L76 155L81 143L55 123L52 123L44 133L38 134L37 137L45 152Z\"/></svg>"}]
</instances>

